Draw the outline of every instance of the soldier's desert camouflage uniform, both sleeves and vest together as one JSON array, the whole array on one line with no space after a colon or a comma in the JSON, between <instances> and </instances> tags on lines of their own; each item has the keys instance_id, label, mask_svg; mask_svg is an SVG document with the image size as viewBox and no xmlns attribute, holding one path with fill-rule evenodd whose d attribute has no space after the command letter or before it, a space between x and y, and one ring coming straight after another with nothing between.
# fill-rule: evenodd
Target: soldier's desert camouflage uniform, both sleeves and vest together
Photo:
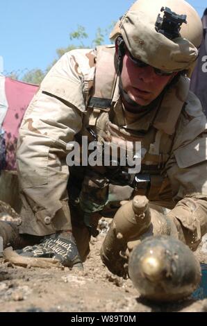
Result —
<instances>
[{"instance_id":1,"label":"soldier's desert camouflage uniform, both sleeves and vest together","mask_svg":"<svg viewBox=\"0 0 207 326\"><path fill-rule=\"evenodd\" d=\"M104 52L108 65L101 63ZM78 139L80 135L90 136L86 130L90 126L100 141L107 139L108 135L115 142L118 138L142 141L146 154L142 159L141 173L151 175L149 200L172 209L169 214L181 223L185 241L197 243L207 231L206 118L197 97L188 92L188 78L181 77L176 85L167 89L154 108L133 114L122 106L117 76L111 69L114 47L101 47L98 53L100 62L97 63L99 75L96 84L101 76L104 87L108 85L109 91L106 91L113 89L111 109L90 102L94 96L97 51L81 49L70 51L58 60L26 111L19 130L17 151L23 202L20 232L43 236L71 230L72 215L73 231L78 234L75 234L78 249L85 251L81 252L82 257L87 254L88 247L84 248L88 246L88 233L75 231L76 221L78 227L85 230L81 220L83 212L80 205L74 204L76 196L68 198L67 191L76 189L78 179L81 184L85 170L74 169L69 178L66 156L69 141ZM110 85L108 74L111 76ZM96 92L100 93L97 97L106 97L103 87ZM104 172L100 172L101 176L94 178L94 184L99 184L99 190L108 196ZM85 173L87 176L87 171ZM86 180L86 190L83 185L82 194L92 183ZM110 191L113 188L109 186ZM122 199L133 196L132 189L124 189L126 193L122 191ZM99 191L98 198L100 196ZM112 198L113 194L109 196ZM99 211L98 206L106 203L106 199L97 201L94 212Z\"/></svg>"}]
</instances>

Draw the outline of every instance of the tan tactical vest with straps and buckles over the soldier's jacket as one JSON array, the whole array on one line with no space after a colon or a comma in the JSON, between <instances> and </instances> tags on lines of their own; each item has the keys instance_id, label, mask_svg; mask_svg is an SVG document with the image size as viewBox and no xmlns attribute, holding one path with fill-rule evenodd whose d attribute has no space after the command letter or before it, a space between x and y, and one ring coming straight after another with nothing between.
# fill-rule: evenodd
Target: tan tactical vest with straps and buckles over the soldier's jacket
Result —
<instances>
[{"instance_id":1,"label":"tan tactical vest with straps and buckles over the soldier's jacket","mask_svg":"<svg viewBox=\"0 0 207 326\"><path fill-rule=\"evenodd\" d=\"M172 201L172 189L165 164L172 153L176 122L188 96L189 80L181 76L175 85L167 89L157 103L158 107L153 109L155 115L149 128L143 131L142 128L136 128L136 123L132 123L131 128L124 126L118 78L115 67L115 47L99 46L94 83L86 87L88 89L88 93L85 94L87 110L83 117L83 128L76 135L76 140L81 143L81 136L86 135L89 141L93 141L96 135L98 141L104 142L110 139L117 142L117 146L124 141L141 141L140 175L150 175L150 187L147 189L140 185L140 189L135 191L131 187L124 187L123 194L123 187L112 186L107 181L103 166L89 169L74 167L70 171L73 180L70 189L78 188L78 190L73 190L75 195L71 196L75 200L78 196L78 203L81 204L85 214L99 212L109 202L130 199L135 194L146 195L146 191L149 200L172 209L175 203ZM139 124L139 121L137 123Z\"/></svg>"}]
</instances>

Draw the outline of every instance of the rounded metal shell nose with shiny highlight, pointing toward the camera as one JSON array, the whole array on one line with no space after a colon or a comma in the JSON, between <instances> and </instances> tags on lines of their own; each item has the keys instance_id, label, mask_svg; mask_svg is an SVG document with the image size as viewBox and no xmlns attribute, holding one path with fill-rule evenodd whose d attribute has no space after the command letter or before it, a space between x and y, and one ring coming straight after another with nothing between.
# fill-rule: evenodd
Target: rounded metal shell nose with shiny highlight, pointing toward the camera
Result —
<instances>
[{"instance_id":1,"label":"rounded metal shell nose with shiny highlight, pointing toward the camera","mask_svg":"<svg viewBox=\"0 0 207 326\"><path fill-rule=\"evenodd\" d=\"M131 252L129 276L143 298L168 302L186 298L197 289L201 268L181 241L149 237Z\"/></svg>"}]
</instances>

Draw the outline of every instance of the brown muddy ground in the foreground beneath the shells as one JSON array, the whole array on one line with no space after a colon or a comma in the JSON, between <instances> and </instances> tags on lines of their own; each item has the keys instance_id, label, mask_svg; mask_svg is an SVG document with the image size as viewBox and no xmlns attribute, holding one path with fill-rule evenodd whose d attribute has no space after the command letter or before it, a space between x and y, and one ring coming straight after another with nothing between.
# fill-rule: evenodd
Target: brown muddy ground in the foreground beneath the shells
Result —
<instances>
[{"instance_id":1,"label":"brown muddy ground in the foreground beneath the shells","mask_svg":"<svg viewBox=\"0 0 207 326\"><path fill-rule=\"evenodd\" d=\"M104 234L92 238L84 272L22 268L1 259L0 311L207 311L207 299L188 298L174 304L142 300L131 280L116 277L101 263L99 248L103 240ZM207 249L207 239L202 246ZM204 261L205 256L199 257Z\"/></svg>"}]
</instances>

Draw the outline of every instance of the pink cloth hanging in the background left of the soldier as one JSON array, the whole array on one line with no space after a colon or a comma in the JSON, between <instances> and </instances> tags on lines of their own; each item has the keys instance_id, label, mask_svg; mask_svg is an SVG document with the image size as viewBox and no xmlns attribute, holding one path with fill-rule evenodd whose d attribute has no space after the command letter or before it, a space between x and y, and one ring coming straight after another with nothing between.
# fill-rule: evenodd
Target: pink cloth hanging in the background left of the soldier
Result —
<instances>
[{"instance_id":1,"label":"pink cloth hanging in the background left of the soldier","mask_svg":"<svg viewBox=\"0 0 207 326\"><path fill-rule=\"evenodd\" d=\"M16 169L19 127L22 123L24 112L37 91L38 85L31 85L6 78L5 92L8 101L8 110L2 125L6 139L6 170Z\"/></svg>"}]
</instances>

